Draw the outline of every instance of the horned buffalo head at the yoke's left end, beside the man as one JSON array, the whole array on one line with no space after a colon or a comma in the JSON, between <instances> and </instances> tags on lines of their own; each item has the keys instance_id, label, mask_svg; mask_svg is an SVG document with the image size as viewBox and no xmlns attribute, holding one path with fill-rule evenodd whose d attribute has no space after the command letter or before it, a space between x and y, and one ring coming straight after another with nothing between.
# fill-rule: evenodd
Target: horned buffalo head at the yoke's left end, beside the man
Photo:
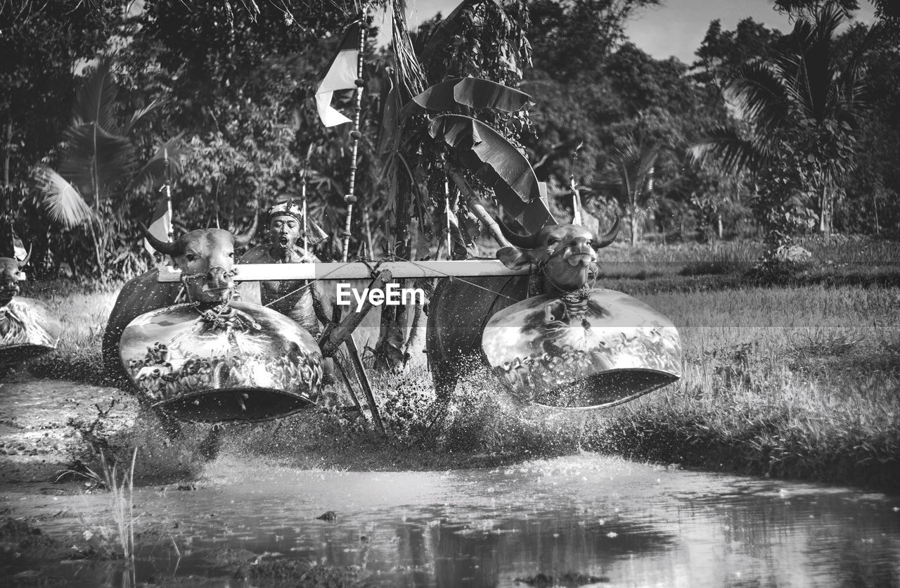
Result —
<instances>
[{"instance_id":1,"label":"horned buffalo head at the yoke's left end, beside the man","mask_svg":"<svg viewBox=\"0 0 900 588\"><path fill-rule=\"evenodd\" d=\"M257 231L257 220L246 234L235 236L224 229L188 231L174 241L158 240L141 224L140 230L153 249L172 258L172 265L187 278L190 299L200 303L227 301L234 289L236 245L247 245Z\"/></svg>"}]
</instances>

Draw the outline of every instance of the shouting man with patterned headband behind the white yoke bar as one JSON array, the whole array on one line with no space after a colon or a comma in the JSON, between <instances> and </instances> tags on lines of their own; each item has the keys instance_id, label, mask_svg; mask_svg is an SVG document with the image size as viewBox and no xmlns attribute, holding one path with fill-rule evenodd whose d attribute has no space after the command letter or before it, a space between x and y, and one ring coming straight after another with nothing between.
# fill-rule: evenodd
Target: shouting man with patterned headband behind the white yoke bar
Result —
<instances>
[{"instance_id":1,"label":"shouting man with patterned headband behind the white yoke bar","mask_svg":"<svg viewBox=\"0 0 900 588\"><path fill-rule=\"evenodd\" d=\"M303 212L293 200L275 204L266 213L269 243L257 245L240 258L240 263L314 263L320 259L303 249L297 241L302 239ZM315 223L308 222L307 243L315 245L327 235ZM238 274L239 276L239 274ZM238 277L239 279L239 277ZM305 286L305 287L304 287ZM316 317L319 309L323 321L328 320L333 307L332 296L322 282L310 285L303 280L271 280L259 283L260 302L297 321L314 339L321 334Z\"/></svg>"}]
</instances>

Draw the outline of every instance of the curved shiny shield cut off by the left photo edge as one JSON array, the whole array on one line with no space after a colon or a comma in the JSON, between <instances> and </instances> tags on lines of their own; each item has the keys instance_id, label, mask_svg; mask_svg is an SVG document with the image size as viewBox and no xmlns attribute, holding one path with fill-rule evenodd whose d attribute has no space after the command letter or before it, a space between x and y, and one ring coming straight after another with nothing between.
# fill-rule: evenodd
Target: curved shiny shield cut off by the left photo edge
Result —
<instances>
[{"instance_id":1,"label":"curved shiny shield cut off by the left photo edge","mask_svg":"<svg viewBox=\"0 0 900 588\"><path fill-rule=\"evenodd\" d=\"M46 304L16 296L0 306L0 366L52 351L61 330Z\"/></svg>"}]
</instances>

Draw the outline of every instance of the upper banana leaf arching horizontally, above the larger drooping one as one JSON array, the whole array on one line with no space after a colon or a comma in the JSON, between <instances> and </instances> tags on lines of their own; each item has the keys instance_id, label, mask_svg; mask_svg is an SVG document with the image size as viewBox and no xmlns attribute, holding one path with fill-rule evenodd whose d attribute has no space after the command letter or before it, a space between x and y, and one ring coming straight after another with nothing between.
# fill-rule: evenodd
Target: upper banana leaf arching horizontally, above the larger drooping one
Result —
<instances>
[{"instance_id":1,"label":"upper banana leaf arching horizontally, above the larger drooping one","mask_svg":"<svg viewBox=\"0 0 900 588\"><path fill-rule=\"evenodd\" d=\"M468 108L515 113L531 101L531 96L516 88L480 77L452 77L415 96L403 108L404 114L455 111Z\"/></svg>"}]
</instances>

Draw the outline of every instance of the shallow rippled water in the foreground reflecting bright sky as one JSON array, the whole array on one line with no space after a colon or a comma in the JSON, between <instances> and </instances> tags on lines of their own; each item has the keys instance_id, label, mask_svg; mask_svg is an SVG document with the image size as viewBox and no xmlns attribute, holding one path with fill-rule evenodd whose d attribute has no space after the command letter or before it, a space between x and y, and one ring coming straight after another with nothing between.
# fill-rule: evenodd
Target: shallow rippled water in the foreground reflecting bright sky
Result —
<instances>
[{"instance_id":1,"label":"shallow rippled water in the foreground reflecting bright sky","mask_svg":"<svg viewBox=\"0 0 900 588\"><path fill-rule=\"evenodd\" d=\"M231 457L207 475L195 492L140 491L147 520L189 547L176 558L166 536L143 544L137 582L193 576L190 585L266 585L229 577L243 549L251 560L359 565L370 586L515 586L517 578L566 573L626 586L900 585L900 500L850 489L592 455L390 474ZM104 508L103 496L18 498L9 497L17 516L63 506L100 516ZM338 519L317 520L325 511ZM76 520L41 527L78 532ZM60 566L43 569L62 574ZM66 566L72 585L125 585L121 570L103 571L109 565ZM22 571L23 562L4 553L3 569Z\"/></svg>"}]
</instances>

